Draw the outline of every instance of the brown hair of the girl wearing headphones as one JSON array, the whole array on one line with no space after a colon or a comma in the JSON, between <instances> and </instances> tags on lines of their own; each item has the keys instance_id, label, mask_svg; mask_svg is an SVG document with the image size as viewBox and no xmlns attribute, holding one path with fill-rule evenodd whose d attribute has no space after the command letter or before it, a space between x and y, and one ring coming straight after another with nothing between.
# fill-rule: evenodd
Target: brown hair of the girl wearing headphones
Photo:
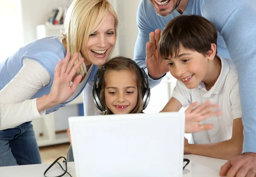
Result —
<instances>
[{"instance_id":1,"label":"brown hair of the girl wearing headphones","mask_svg":"<svg viewBox=\"0 0 256 177\"><path fill-rule=\"evenodd\" d=\"M99 74L98 84L99 86L101 86L100 102L102 103L103 110L105 111L101 112L100 114L113 114L113 112L107 107L106 100L105 100L106 75L110 71L123 71L123 70L127 70L131 72L131 77L133 77L136 80L136 85L138 89L137 104L131 110L130 114L141 113L143 111L142 91L143 91L143 88L146 86L146 81L142 75L142 71L136 65L136 63L130 58L118 56L109 60L104 65L104 68L105 70L102 69Z\"/></svg>"}]
</instances>

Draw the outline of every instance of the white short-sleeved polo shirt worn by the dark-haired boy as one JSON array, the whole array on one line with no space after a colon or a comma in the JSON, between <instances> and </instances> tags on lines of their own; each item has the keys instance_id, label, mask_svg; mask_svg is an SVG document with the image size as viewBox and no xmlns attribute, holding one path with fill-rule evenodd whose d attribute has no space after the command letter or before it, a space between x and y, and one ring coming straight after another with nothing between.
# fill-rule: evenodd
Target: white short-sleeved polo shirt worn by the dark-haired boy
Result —
<instances>
[{"instance_id":1,"label":"white short-sleeved polo shirt worn by the dark-haired boy","mask_svg":"<svg viewBox=\"0 0 256 177\"><path fill-rule=\"evenodd\" d=\"M221 74L209 91L206 90L204 82L201 82L196 88L188 89L179 80L173 90L172 97L179 100L183 107L187 107L195 101L201 104L210 100L212 103L218 103L219 109L222 111L220 116L209 117L200 123L213 124L214 128L193 133L192 138L196 144L229 140L232 137L233 120L242 117L236 66L230 59L222 59L220 56L218 58L221 59Z\"/></svg>"}]
</instances>

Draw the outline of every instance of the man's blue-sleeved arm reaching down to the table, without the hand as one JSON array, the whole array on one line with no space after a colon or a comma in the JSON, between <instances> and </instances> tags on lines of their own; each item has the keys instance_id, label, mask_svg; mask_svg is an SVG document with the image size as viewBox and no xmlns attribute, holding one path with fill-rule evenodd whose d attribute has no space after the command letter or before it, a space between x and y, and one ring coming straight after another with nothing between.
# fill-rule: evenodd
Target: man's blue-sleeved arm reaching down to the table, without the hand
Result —
<instances>
[{"instance_id":1,"label":"man's blue-sleeved arm reaching down to the table, without the hand","mask_svg":"<svg viewBox=\"0 0 256 177\"><path fill-rule=\"evenodd\" d=\"M239 73L243 112L243 152L256 153L256 1L205 1L202 15L210 20L223 37ZM221 52L221 51L220 51Z\"/></svg>"}]
</instances>

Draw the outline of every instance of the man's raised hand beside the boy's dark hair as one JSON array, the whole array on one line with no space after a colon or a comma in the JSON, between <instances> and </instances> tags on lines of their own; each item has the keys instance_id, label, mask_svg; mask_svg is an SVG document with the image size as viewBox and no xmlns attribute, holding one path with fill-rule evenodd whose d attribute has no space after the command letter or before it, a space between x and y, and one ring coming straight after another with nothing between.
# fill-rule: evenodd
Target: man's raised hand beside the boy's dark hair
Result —
<instances>
[{"instance_id":1,"label":"man's raised hand beside the boy's dark hair","mask_svg":"<svg viewBox=\"0 0 256 177\"><path fill-rule=\"evenodd\" d=\"M169 71L167 63L158 51L160 34L160 29L151 32L149 34L149 42L146 44L146 66L152 79L159 79Z\"/></svg>"}]
</instances>

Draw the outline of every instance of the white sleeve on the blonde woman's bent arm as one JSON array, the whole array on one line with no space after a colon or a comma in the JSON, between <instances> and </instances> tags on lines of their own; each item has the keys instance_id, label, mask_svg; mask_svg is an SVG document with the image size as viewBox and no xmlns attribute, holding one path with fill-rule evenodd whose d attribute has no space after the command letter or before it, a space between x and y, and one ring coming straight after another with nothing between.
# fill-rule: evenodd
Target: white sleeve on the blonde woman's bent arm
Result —
<instances>
[{"instance_id":1,"label":"white sleeve on the blonde woman's bent arm","mask_svg":"<svg viewBox=\"0 0 256 177\"><path fill-rule=\"evenodd\" d=\"M30 98L50 83L48 71L35 60L24 59L18 74L0 91L0 130L44 117L38 111L37 98Z\"/></svg>"}]
</instances>

